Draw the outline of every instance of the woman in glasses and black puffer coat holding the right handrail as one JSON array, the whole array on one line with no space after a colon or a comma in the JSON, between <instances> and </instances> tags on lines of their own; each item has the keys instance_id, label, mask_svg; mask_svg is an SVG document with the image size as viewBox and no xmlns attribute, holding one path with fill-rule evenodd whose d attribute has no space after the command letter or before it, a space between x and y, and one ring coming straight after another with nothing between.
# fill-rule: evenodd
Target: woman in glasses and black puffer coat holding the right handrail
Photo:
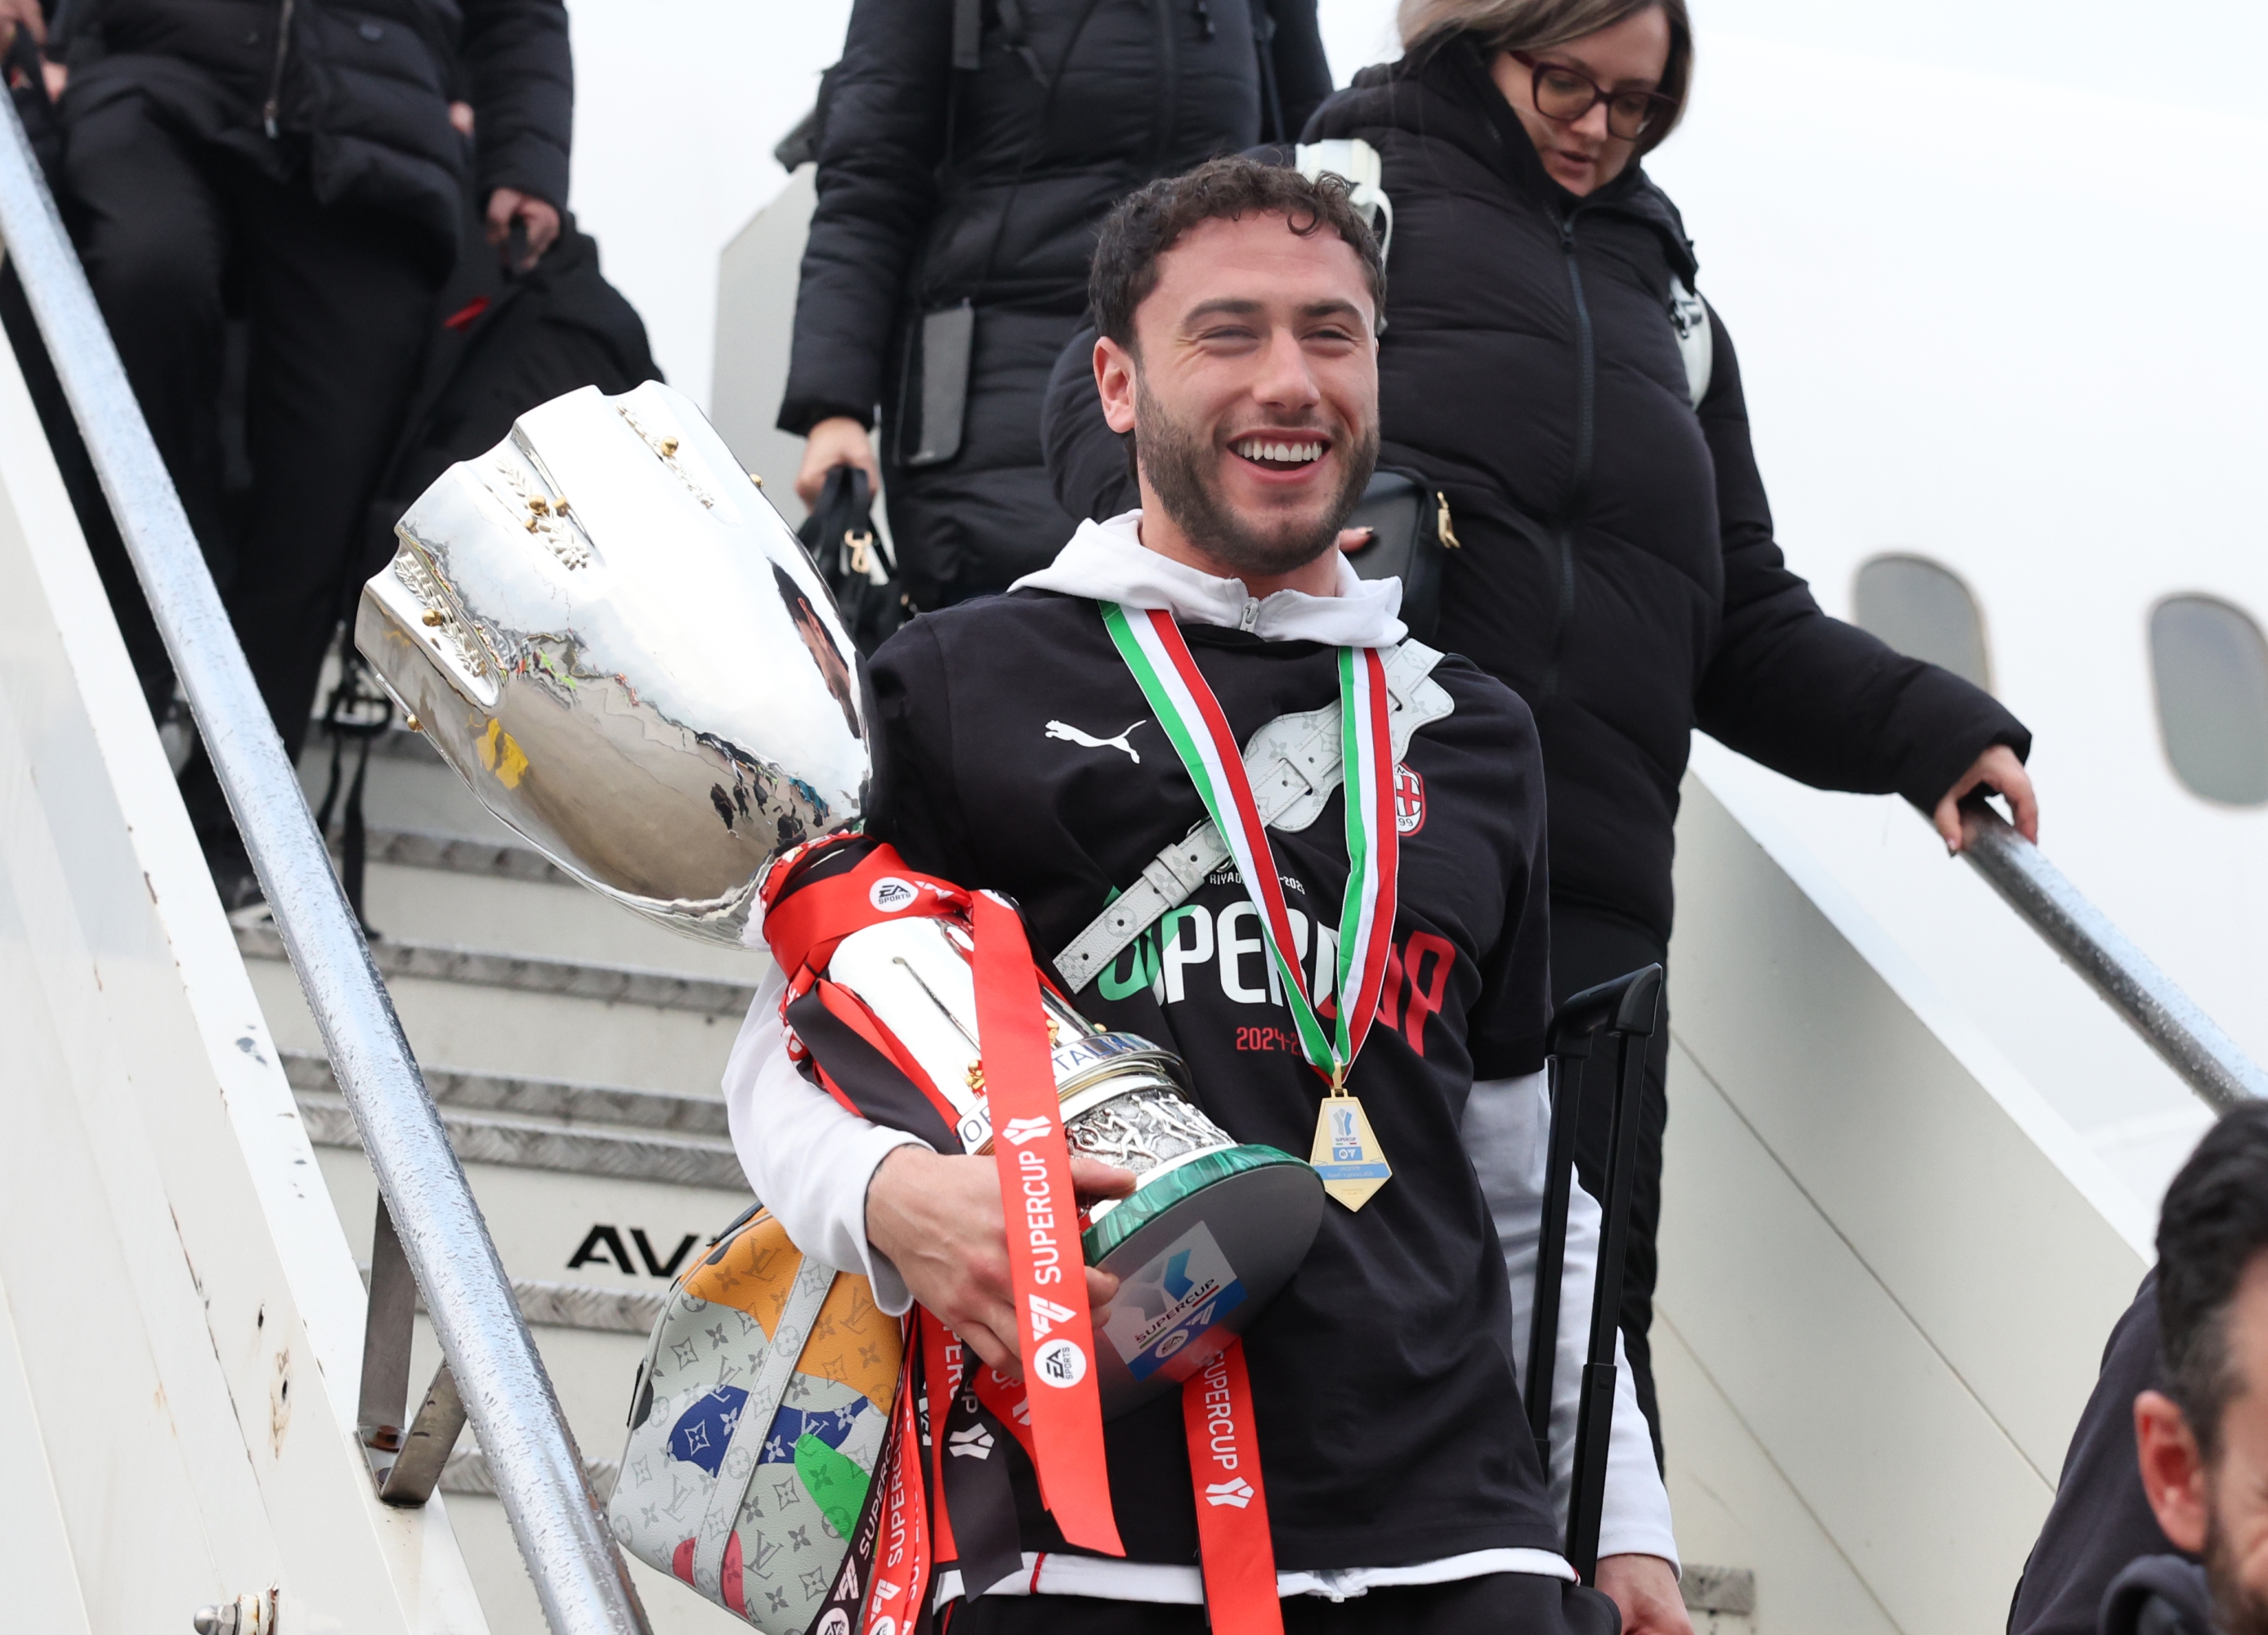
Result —
<instances>
[{"instance_id":1,"label":"woman in glasses and black puffer coat holding the right handrail","mask_svg":"<svg viewBox=\"0 0 2268 1635\"><path fill-rule=\"evenodd\" d=\"M1637 159L1683 107L1683 0L1408 0L1402 34L1404 57L1356 75L1302 141L1361 138L1383 161L1379 463L1422 472L1461 542L1431 639L1508 683L1542 732L1556 996L1667 961L1696 726L1810 785L1903 794L1948 846L1980 782L2037 832L2025 728L1819 610L1774 540L1715 311L1706 351L1681 347L1694 252ZM1077 340L1061 356L1046 440L1066 510L1107 517L1134 501L1091 356ZM1642 1104L1622 1313L1656 1447L1667 1039ZM1592 1191L1608 1111L1585 1098Z\"/></svg>"}]
</instances>

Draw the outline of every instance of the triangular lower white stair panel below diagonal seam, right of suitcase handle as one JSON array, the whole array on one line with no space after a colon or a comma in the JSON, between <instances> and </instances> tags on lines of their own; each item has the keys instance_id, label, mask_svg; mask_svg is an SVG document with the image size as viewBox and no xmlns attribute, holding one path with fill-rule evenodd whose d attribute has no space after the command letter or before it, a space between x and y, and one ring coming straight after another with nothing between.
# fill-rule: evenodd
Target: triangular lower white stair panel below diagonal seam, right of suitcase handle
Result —
<instances>
[{"instance_id":1,"label":"triangular lower white stair panel below diagonal seam, right of suitcase handle","mask_svg":"<svg viewBox=\"0 0 2268 1635\"><path fill-rule=\"evenodd\" d=\"M1721 1635L1894 1635L1898 1628L1803 1497L1694 1361L1665 1313L1653 1315L1653 1386L1669 1426L1669 1508L1678 1553L1755 1574L1755 1612ZM1696 1635L1712 1626L1694 1617Z\"/></svg>"}]
</instances>

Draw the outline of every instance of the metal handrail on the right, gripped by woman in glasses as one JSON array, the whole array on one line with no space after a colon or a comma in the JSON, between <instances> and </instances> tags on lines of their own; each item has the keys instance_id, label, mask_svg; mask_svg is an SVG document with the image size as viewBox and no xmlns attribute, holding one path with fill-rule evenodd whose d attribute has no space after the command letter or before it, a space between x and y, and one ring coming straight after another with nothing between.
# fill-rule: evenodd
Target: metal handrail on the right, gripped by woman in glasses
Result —
<instances>
[{"instance_id":1,"label":"metal handrail on the right, gripped by woman in glasses","mask_svg":"<svg viewBox=\"0 0 2268 1635\"><path fill-rule=\"evenodd\" d=\"M2268 1095L2268 1073L2007 819L1962 807L1962 857L2218 1111Z\"/></svg>"}]
</instances>

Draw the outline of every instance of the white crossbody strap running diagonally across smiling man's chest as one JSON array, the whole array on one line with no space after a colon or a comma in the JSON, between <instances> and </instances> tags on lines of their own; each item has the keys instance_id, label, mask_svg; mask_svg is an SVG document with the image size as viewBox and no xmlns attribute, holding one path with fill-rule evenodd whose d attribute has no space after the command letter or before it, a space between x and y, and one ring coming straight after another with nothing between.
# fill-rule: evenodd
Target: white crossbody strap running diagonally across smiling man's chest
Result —
<instances>
[{"instance_id":1,"label":"white crossbody strap running diagonally across smiling man's chest","mask_svg":"<svg viewBox=\"0 0 2268 1635\"><path fill-rule=\"evenodd\" d=\"M1402 642L1386 658L1395 760L1408 753L1417 728L1456 710L1449 689L1433 680L1440 660L1442 655L1424 642ZM1338 705L1279 714L1254 732L1245 744L1245 778L1252 780L1252 800L1268 828L1297 835L1322 816L1331 791L1345 778L1338 753ZM1055 968L1064 973L1070 991L1084 991L1109 971L1136 937L1157 925L1227 859L1229 844L1211 819L1152 857L1141 878L1111 898L1109 907L1055 957Z\"/></svg>"}]
</instances>

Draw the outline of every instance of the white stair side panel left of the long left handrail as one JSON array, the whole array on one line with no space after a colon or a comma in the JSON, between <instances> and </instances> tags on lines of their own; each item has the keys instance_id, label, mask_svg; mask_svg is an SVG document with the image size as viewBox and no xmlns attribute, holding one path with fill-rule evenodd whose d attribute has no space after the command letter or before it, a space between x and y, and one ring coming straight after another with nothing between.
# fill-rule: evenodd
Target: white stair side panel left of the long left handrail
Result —
<instances>
[{"instance_id":1,"label":"white stair side panel left of the long left handrail","mask_svg":"<svg viewBox=\"0 0 2268 1635\"><path fill-rule=\"evenodd\" d=\"M98 1630L284 1585L479 1630L354 1447L363 1295L14 358L0 358L0 1281ZM109 1390L102 1390L102 1388Z\"/></svg>"}]
</instances>

